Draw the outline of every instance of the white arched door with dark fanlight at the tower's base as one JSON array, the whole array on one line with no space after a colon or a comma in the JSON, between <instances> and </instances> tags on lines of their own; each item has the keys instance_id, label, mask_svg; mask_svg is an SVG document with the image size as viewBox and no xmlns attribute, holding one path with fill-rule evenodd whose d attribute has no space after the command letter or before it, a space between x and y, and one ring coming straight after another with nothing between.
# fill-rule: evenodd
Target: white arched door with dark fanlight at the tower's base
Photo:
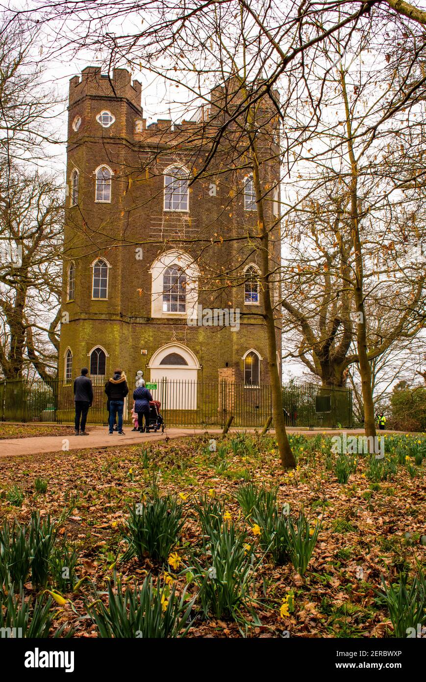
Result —
<instances>
[{"instance_id":1,"label":"white arched door with dark fanlight at the tower's base","mask_svg":"<svg viewBox=\"0 0 426 682\"><path fill-rule=\"evenodd\" d=\"M197 409L197 379L200 363L196 355L177 343L169 343L155 351L149 361L151 391L154 400L160 400L168 410Z\"/></svg>"}]
</instances>

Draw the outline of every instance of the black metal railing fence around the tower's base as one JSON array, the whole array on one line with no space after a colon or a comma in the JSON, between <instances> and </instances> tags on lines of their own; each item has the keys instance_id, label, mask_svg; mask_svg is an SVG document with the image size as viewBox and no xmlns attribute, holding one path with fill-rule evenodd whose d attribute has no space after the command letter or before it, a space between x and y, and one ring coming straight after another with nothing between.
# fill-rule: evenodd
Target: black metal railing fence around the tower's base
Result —
<instances>
[{"instance_id":1,"label":"black metal railing fence around the tower's base","mask_svg":"<svg viewBox=\"0 0 426 682\"><path fill-rule=\"evenodd\" d=\"M272 414L270 385L245 386L221 381L166 381L151 389L167 426L224 426L230 415L232 426L260 427ZM93 385L89 424L105 424L104 383ZM130 423L132 391L125 401L125 423ZM282 404L287 426L330 428L352 425L352 391L334 387L290 383L283 386ZM2 421L74 421L72 382L52 379L21 379L0 383Z\"/></svg>"}]
</instances>

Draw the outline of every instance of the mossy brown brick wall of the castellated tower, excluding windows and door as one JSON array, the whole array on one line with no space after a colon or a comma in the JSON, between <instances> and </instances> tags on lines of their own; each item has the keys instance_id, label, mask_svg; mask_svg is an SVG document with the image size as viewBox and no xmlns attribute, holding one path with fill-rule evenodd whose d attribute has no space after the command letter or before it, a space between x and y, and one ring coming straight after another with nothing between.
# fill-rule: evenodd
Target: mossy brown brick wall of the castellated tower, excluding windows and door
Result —
<instances>
[{"instance_id":1,"label":"mossy brown brick wall of the castellated tower, excluding windows and door","mask_svg":"<svg viewBox=\"0 0 426 682\"><path fill-rule=\"evenodd\" d=\"M97 123L96 115L101 110L114 115L115 123L110 128ZM72 121L76 116L82 123L75 132ZM107 374L121 366L127 376L133 378L136 370L142 369L149 379L148 364L153 353L176 341L198 358L198 378L212 382L217 382L218 370L224 371L226 363L229 374L233 372L236 381L243 381L242 357L254 348L262 357L261 382L268 383L264 325L262 318L250 315L262 312L261 306L246 306L243 284L233 286L236 278L243 282L243 266L256 263L257 253L246 240L226 241L227 237L245 235L256 223L256 214L243 209L244 173L224 172L225 149L218 153L209 177L190 188L189 213L164 211L164 169L179 162L194 173L201 167L205 150L195 123L184 122L172 130L170 121L158 121L149 127L144 121L142 132L136 132L135 122L140 120L144 121L140 84L132 83L126 70L115 70L112 86L96 68L83 70L81 79L72 78L67 181L77 168L79 201L78 206L70 207L67 200L65 217L62 307L70 321L61 329L59 375L63 376L68 347L73 354L75 376L80 367L89 366L88 353L99 345L108 355ZM95 203L94 173L101 164L107 164L114 173L108 204ZM271 164L268 173L271 178L278 177L279 168ZM217 196L210 196L212 181ZM271 251L271 257L277 260L278 228L274 236L275 256ZM211 243L212 237L215 243ZM142 259L136 258L140 247ZM185 317L151 318L151 265L170 248L180 248L198 264L202 306L240 308L245 313L239 331L229 327L189 327ZM91 265L98 257L110 265L108 300L102 301L91 297ZM68 302L70 262L76 267L76 293L74 301ZM277 324L278 343L279 339ZM141 355L141 349L146 349L147 355Z\"/></svg>"}]
</instances>

